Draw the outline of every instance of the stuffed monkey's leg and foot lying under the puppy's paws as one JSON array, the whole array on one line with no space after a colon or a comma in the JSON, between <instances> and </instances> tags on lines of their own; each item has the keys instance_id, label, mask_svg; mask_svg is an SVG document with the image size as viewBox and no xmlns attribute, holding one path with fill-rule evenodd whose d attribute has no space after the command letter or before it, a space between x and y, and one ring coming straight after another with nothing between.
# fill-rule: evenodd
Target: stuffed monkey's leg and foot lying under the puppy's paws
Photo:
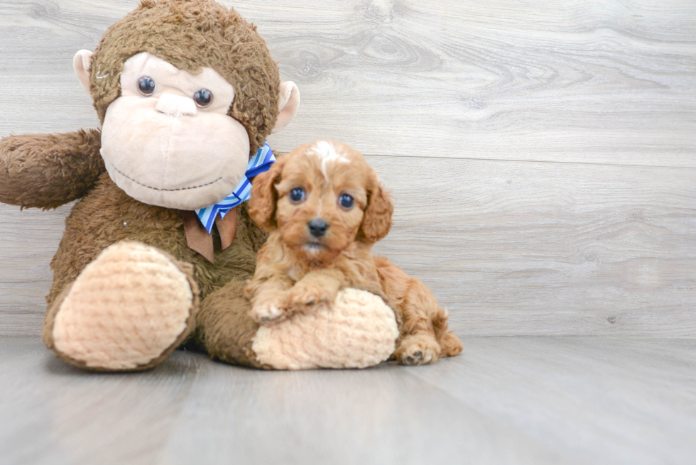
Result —
<instances>
[{"instance_id":1,"label":"stuffed monkey's leg and foot lying under the puppy's paws","mask_svg":"<svg viewBox=\"0 0 696 465\"><path fill-rule=\"evenodd\" d=\"M330 307L259 327L245 285L231 281L201 302L195 335L213 359L276 370L366 368L394 351L394 310L380 295L343 289Z\"/></svg>"}]
</instances>

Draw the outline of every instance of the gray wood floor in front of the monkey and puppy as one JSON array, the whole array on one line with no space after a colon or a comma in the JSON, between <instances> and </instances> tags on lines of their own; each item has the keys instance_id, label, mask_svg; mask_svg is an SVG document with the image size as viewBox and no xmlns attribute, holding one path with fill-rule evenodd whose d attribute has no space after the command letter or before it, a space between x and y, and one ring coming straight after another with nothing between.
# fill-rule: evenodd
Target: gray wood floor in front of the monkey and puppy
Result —
<instances>
[{"instance_id":1,"label":"gray wood floor in front of the monkey and puppy","mask_svg":"<svg viewBox=\"0 0 696 465\"><path fill-rule=\"evenodd\" d=\"M147 373L0 337L3 464L693 464L696 340L467 338L434 366Z\"/></svg>"}]
</instances>

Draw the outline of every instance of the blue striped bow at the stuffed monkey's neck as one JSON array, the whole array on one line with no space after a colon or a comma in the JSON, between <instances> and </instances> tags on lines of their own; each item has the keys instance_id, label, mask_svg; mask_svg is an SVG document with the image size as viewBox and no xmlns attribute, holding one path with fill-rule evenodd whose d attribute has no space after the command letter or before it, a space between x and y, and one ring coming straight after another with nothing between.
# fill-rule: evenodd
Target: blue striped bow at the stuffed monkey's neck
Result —
<instances>
[{"instance_id":1,"label":"blue striped bow at the stuffed monkey's neck","mask_svg":"<svg viewBox=\"0 0 696 465\"><path fill-rule=\"evenodd\" d=\"M251 182L249 182L249 177L254 177L259 173L268 171L275 161L276 157L273 156L271 146L268 146L268 142L264 142L263 147L259 148L256 155L249 160L249 164L246 165L246 173L244 173L244 177L241 178L241 181L239 181L237 187L234 188L232 194L217 202L217 204L196 210L196 215L205 227L205 230L208 231L208 234L212 231L212 225L215 224L215 218L218 214L220 218L224 218L231 209L251 198Z\"/></svg>"}]
</instances>

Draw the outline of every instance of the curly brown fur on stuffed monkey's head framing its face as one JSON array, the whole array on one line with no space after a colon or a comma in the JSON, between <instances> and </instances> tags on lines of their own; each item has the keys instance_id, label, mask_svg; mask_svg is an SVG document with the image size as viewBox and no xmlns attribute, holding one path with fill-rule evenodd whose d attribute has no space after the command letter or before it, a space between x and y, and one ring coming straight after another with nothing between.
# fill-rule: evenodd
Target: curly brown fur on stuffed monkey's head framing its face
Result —
<instances>
[{"instance_id":1,"label":"curly brown fur on stuffed monkey's head framing its face","mask_svg":"<svg viewBox=\"0 0 696 465\"><path fill-rule=\"evenodd\" d=\"M143 0L109 26L92 57L89 87L99 120L121 95L123 64L148 52L192 74L219 72L235 90L229 116L249 133L254 155L278 116L281 78L256 26L215 1Z\"/></svg>"}]
</instances>

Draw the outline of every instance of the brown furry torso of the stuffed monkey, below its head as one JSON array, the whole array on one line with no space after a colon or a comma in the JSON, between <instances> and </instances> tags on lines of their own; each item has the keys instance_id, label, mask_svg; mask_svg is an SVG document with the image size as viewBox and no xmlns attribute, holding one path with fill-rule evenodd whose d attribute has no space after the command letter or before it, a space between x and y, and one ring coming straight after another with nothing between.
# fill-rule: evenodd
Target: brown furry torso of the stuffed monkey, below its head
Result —
<instances>
[{"instance_id":1,"label":"brown furry torso of the stuffed monkey, below its head","mask_svg":"<svg viewBox=\"0 0 696 465\"><path fill-rule=\"evenodd\" d=\"M222 251L219 234L213 229L216 245L213 264L187 246L179 210L138 202L120 190L107 174L102 175L97 187L73 207L65 220L65 233L51 261L54 280L48 304L104 248L118 241L141 242L191 263L202 298L230 280L249 278L254 273L256 251L263 244L265 234L249 219L246 204L238 209L232 246Z\"/></svg>"}]
</instances>

